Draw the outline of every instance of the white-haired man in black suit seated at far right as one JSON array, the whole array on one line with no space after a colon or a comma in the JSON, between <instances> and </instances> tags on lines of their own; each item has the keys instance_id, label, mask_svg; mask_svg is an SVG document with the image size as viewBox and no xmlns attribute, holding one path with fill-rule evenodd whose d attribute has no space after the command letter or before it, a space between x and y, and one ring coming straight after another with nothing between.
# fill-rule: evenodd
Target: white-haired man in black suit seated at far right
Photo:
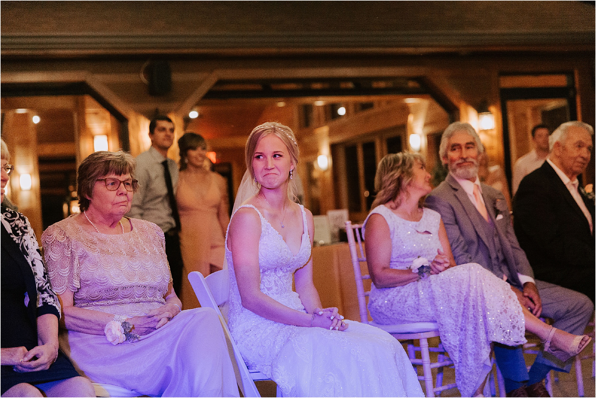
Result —
<instances>
[{"instance_id":1,"label":"white-haired man in black suit seated at far right","mask_svg":"<svg viewBox=\"0 0 596 398\"><path fill-rule=\"evenodd\" d=\"M594 196L578 189L588 166L594 129L566 122L550 137L550 155L527 175L513 205L520 246L536 276L594 301Z\"/></svg>"}]
</instances>

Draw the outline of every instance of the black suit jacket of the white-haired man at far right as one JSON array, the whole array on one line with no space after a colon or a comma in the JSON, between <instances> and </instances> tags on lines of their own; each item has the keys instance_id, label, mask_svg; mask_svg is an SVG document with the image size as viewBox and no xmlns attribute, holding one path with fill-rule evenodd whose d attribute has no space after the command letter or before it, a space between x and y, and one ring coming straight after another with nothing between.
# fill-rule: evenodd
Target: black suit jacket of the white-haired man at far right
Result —
<instances>
[{"instance_id":1,"label":"black suit jacket of the white-haired man at far right","mask_svg":"<svg viewBox=\"0 0 596 398\"><path fill-rule=\"evenodd\" d=\"M594 218L594 200L583 196ZM594 233L578 203L548 162L526 175L513 201L515 232L538 279L594 300Z\"/></svg>"}]
</instances>

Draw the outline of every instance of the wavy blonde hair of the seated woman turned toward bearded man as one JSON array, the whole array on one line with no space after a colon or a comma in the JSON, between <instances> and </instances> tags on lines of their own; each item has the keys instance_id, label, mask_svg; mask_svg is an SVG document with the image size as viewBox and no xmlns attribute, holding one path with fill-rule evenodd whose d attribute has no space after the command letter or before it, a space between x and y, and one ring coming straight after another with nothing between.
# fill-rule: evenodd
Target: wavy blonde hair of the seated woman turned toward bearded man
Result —
<instances>
[{"instance_id":1,"label":"wavy blonde hair of the seated woman turned toward bearded man","mask_svg":"<svg viewBox=\"0 0 596 398\"><path fill-rule=\"evenodd\" d=\"M377 174L374 176L377 197L371 208L374 209L378 205L392 201L395 201L395 206L399 206L399 196L406 191L406 187L414 177L415 162L426 166L423 156L418 153L390 153L381 159L377 166Z\"/></svg>"}]
</instances>

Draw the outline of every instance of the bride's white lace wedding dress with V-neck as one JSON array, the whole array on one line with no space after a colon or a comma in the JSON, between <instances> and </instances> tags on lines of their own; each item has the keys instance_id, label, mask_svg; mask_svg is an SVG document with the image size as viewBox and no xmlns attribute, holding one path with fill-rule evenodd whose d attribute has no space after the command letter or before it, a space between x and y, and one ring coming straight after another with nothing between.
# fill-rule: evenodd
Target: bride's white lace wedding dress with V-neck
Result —
<instances>
[{"instance_id":1,"label":"bride's white lace wedding dress with V-neck","mask_svg":"<svg viewBox=\"0 0 596 398\"><path fill-rule=\"evenodd\" d=\"M261 220L261 291L284 306L306 312L292 291L294 271L311 257L304 209L302 244L294 255L254 206L241 207L253 208ZM272 378L283 396L423 396L401 344L380 329L349 320L344 332L304 328L274 322L244 308L227 240L225 252L231 282L229 329L248 367Z\"/></svg>"}]
</instances>

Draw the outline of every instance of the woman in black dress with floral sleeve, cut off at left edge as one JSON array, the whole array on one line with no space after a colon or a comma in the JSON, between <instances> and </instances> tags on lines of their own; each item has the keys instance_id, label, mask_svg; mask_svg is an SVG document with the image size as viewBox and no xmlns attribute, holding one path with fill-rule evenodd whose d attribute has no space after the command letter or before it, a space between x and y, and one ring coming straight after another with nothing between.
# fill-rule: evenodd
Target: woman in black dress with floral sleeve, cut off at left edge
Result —
<instances>
[{"instance_id":1,"label":"woman in black dress with floral sleeve, cut off at left edge","mask_svg":"<svg viewBox=\"0 0 596 398\"><path fill-rule=\"evenodd\" d=\"M12 166L1 142L1 200ZM60 303L46 277L35 233L27 218L1 208L2 397L94 397L91 382L80 377L58 350Z\"/></svg>"}]
</instances>

